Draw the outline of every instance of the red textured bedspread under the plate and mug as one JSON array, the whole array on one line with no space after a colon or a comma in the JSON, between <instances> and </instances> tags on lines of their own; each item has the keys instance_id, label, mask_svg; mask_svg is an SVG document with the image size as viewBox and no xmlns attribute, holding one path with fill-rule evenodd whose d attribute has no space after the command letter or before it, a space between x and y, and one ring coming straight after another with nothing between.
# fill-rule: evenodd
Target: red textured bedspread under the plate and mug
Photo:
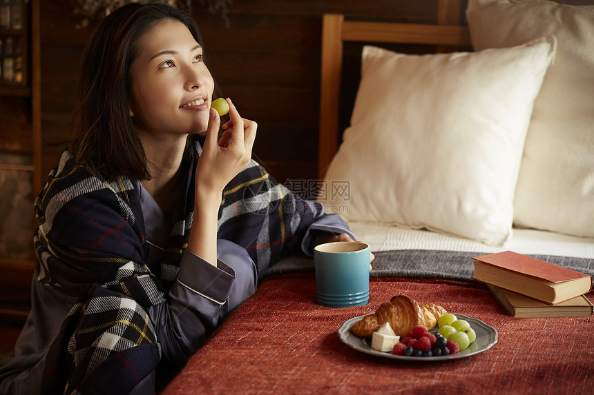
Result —
<instances>
[{"instance_id":1,"label":"red textured bedspread under the plate and mug","mask_svg":"<svg viewBox=\"0 0 594 395\"><path fill-rule=\"evenodd\" d=\"M478 318L499 341L467 358L410 363L340 340L347 319L395 294ZM163 394L594 393L594 316L512 318L486 287L456 281L372 279L370 295L369 305L331 309L316 304L313 275L266 281Z\"/></svg>"}]
</instances>

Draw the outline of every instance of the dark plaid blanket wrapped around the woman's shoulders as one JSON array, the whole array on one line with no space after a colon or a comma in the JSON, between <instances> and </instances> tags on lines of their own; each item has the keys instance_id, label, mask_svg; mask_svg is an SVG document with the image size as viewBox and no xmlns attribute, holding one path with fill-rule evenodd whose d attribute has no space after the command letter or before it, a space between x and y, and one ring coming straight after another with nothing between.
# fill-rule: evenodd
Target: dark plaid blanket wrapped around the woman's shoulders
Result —
<instances>
[{"instance_id":1,"label":"dark plaid blanket wrapped around the woman's shoulders","mask_svg":"<svg viewBox=\"0 0 594 395\"><path fill-rule=\"evenodd\" d=\"M196 143L179 210L160 267L144 263L147 243L140 183L106 180L77 167L68 151L35 202L38 280L79 297L50 347L47 394L127 394L160 362L146 307L166 303L187 245L193 214ZM291 252L326 214L251 161L224 189L218 238L245 247L258 270Z\"/></svg>"}]
</instances>

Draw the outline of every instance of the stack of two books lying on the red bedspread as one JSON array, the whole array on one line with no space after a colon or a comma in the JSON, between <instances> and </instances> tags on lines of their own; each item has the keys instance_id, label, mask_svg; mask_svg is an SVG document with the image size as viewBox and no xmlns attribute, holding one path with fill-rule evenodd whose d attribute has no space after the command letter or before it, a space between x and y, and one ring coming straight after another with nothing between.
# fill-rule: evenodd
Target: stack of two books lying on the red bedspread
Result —
<instances>
[{"instance_id":1,"label":"stack of two books lying on the red bedspread","mask_svg":"<svg viewBox=\"0 0 594 395\"><path fill-rule=\"evenodd\" d=\"M477 281L486 283L513 317L590 316L584 296L592 276L511 251L473 258Z\"/></svg>"}]
</instances>

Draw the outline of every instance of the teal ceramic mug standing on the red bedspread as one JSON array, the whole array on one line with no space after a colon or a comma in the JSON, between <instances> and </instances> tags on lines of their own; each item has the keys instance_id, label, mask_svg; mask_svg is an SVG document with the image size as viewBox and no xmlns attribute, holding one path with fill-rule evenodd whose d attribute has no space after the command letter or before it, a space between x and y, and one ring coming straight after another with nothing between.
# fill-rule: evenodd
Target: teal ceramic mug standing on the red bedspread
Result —
<instances>
[{"instance_id":1,"label":"teal ceramic mug standing on the red bedspread","mask_svg":"<svg viewBox=\"0 0 594 395\"><path fill-rule=\"evenodd\" d=\"M337 241L314 248L318 303L326 307L367 305L370 297L370 246Z\"/></svg>"}]
</instances>

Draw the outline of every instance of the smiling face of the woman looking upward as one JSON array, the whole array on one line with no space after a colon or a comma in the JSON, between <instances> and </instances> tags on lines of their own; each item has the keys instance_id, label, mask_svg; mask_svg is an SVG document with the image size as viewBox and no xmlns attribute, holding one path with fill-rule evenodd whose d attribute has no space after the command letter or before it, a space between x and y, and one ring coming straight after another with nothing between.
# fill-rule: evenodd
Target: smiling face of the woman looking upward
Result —
<instances>
[{"instance_id":1,"label":"smiling face of the woman looking upward","mask_svg":"<svg viewBox=\"0 0 594 395\"><path fill-rule=\"evenodd\" d=\"M214 81L188 28L177 20L164 21L138 45L130 105L137 127L149 134L205 132Z\"/></svg>"}]
</instances>

